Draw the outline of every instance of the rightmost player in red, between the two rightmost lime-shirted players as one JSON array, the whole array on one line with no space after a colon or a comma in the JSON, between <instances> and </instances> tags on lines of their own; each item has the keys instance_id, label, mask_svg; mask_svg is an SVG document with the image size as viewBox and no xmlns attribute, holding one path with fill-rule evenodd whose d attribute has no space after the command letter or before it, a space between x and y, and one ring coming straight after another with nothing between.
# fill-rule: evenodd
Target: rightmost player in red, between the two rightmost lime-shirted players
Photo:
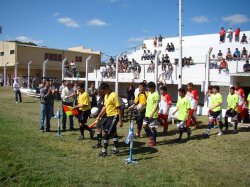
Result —
<instances>
[{"instance_id":1,"label":"rightmost player in red, between the two rightmost lime-shirted players","mask_svg":"<svg viewBox=\"0 0 250 187\"><path fill-rule=\"evenodd\" d=\"M236 82L234 84L235 87L235 93L239 95L239 105L238 105L238 121L241 122L242 120L244 121L244 119L246 118L245 114L243 113L243 104L245 102L245 92L244 90L240 87L240 84L238 82Z\"/></svg>"}]
</instances>

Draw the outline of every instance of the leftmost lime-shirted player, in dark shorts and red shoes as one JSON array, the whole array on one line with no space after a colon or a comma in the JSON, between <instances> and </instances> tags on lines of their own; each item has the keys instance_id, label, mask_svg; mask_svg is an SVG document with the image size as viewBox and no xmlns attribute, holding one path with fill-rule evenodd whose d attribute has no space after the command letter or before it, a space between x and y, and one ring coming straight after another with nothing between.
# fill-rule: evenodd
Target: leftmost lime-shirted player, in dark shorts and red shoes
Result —
<instances>
[{"instance_id":1,"label":"leftmost lime-shirted player, in dark shorts and red shoes","mask_svg":"<svg viewBox=\"0 0 250 187\"><path fill-rule=\"evenodd\" d=\"M145 129L147 135L150 137L149 146L156 145L157 137L157 118L159 110L159 93L155 90L156 85L154 82L148 83L149 95L147 98L146 114L143 121L143 128Z\"/></svg>"}]
</instances>

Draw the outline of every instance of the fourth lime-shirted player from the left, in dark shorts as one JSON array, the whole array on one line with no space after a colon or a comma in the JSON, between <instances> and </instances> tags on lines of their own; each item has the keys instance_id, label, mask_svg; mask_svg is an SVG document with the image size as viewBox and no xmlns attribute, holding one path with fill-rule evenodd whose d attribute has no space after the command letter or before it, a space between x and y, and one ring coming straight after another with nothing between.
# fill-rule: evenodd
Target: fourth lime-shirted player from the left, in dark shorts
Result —
<instances>
[{"instance_id":1,"label":"fourth lime-shirted player from the left, in dark shorts","mask_svg":"<svg viewBox=\"0 0 250 187\"><path fill-rule=\"evenodd\" d=\"M235 93L235 87L230 88L230 93L227 96L227 111L225 114L225 132L228 131L228 117L232 117L234 120L234 134L237 134L237 125L238 125L238 105L239 105L239 96Z\"/></svg>"}]
</instances>

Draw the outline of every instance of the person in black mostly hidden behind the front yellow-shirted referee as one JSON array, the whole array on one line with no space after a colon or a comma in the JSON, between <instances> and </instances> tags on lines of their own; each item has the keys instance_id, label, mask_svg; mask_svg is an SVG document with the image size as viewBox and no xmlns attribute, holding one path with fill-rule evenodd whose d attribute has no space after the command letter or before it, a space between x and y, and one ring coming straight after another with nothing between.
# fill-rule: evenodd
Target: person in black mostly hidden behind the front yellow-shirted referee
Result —
<instances>
[{"instance_id":1,"label":"person in black mostly hidden behind the front yellow-shirted referee","mask_svg":"<svg viewBox=\"0 0 250 187\"><path fill-rule=\"evenodd\" d=\"M104 106L104 97L105 93L103 90L98 90L99 100L97 101L97 107L98 107L98 115L102 111L102 108ZM92 148L101 148L102 147L102 129L103 124L105 123L106 118L103 116L102 119L96 120L94 123L96 123L97 126L97 144L92 146Z\"/></svg>"}]
</instances>

